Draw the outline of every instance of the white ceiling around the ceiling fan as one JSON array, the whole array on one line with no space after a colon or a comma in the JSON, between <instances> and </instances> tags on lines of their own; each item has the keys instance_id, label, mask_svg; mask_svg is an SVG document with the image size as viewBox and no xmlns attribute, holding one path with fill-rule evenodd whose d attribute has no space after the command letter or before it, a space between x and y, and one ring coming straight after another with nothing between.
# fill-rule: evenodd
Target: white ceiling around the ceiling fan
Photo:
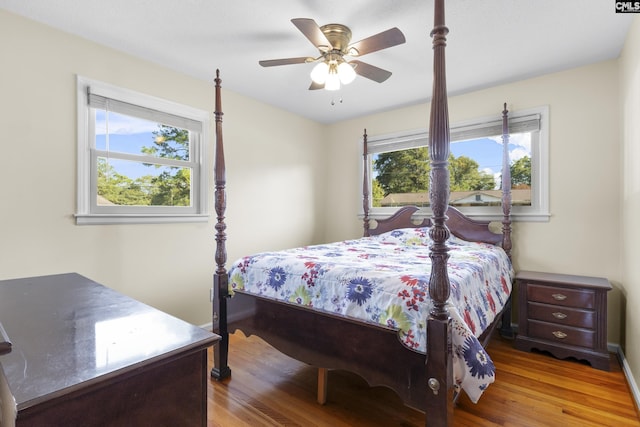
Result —
<instances>
[{"instance_id":1,"label":"white ceiling around the ceiling fan","mask_svg":"<svg viewBox=\"0 0 640 427\"><path fill-rule=\"evenodd\" d=\"M213 81L219 68L225 89L321 123L431 96L433 0L0 0L0 8L199 79ZM632 17L607 0L449 0L449 93L617 58ZM407 42L359 58L392 71L386 82L358 77L339 92L310 91L313 64L258 65L317 56L292 18L347 25L352 41L398 27Z\"/></svg>"}]
</instances>

